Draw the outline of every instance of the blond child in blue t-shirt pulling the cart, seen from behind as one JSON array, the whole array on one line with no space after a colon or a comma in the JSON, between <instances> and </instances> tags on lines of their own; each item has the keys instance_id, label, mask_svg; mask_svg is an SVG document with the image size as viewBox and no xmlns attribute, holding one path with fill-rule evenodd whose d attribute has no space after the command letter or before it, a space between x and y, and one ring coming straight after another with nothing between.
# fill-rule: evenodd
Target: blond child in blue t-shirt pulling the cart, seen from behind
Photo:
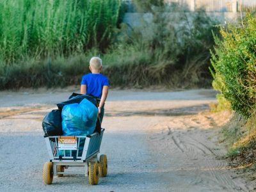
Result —
<instances>
[{"instance_id":1,"label":"blond child in blue t-shirt pulling the cart, seen from behind","mask_svg":"<svg viewBox=\"0 0 256 192\"><path fill-rule=\"evenodd\" d=\"M100 101L98 109L101 123L104 116L104 103L108 97L109 82L107 77L100 74L102 70L102 60L100 58L91 58L89 68L92 73L83 76L81 94L92 95Z\"/></svg>"}]
</instances>

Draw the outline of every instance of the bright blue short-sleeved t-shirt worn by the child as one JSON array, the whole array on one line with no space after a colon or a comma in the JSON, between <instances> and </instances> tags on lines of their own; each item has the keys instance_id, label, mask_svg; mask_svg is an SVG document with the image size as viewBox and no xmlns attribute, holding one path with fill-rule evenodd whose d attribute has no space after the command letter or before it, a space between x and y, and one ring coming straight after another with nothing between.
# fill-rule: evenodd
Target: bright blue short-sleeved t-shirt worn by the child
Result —
<instances>
[{"instance_id":1,"label":"bright blue short-sleeved t-shirt worn by the child","mask_svg":"<svg viewBox=\"0 0 256 192\"><path fill-rule=\"evenodd\" d=\"M87 74L83 76L81 84L87 85L86 95L101 98L103 86L109 86L108 78L102 74Z\"/></svg>"}]
</instances>

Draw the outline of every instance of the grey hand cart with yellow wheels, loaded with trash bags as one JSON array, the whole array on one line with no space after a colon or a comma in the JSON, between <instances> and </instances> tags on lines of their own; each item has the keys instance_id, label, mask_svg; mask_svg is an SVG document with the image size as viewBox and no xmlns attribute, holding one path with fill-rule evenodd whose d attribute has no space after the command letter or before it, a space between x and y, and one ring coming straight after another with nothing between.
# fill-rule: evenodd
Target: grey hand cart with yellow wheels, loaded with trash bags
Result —
<instances>
[{"instance_id":1,"label":"grey hand cart with yellow wheels, loaded with trash bags","mask_svg":"<svg viewBox=\"0 0 256 192\"><path fill-rule=\"evenodd\" d=\"M97 185L99 175L106 177L108 173L107 156L102 154L97 158L103 133L104 129L90 136L45 136L50 161L44 164L44 183L52 184L53 176L83 174L88 176L90 184ZM68 167L83 169L81 172L67 172Z\"/></svg>"}]
</instances>

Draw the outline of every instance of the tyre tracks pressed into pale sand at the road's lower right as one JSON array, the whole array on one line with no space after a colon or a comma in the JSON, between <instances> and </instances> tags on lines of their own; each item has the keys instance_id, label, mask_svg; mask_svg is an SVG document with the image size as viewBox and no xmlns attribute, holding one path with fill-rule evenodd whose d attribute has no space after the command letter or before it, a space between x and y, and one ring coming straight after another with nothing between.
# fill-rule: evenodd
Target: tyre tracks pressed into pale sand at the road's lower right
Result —
<instances>
[{"instance_id":1,"label":"tyre tracks pressed into pale sand at the road's lower right","mask_svg":"<svg viewBox=\"0 0 256 192\"><path fill-rule=\"evenodd\" d=\"M216 161L216 154L207 146L207 141L202 143L202 141L195 140L191 138L191 136L188 136L188 133L179 133L179 131L171 130L173 143L182 153L186 154L190 161L193 161L195 171L197 172L196 177L191 180L191 184L207 184L211 185L212 188L216 190L244 191L244 189L236 186L229 175L224 172L224 170L227 169L226 164L221 161ZM182 145L180 145L180 143L182 143Z\"/></svg>"}]
</instances>

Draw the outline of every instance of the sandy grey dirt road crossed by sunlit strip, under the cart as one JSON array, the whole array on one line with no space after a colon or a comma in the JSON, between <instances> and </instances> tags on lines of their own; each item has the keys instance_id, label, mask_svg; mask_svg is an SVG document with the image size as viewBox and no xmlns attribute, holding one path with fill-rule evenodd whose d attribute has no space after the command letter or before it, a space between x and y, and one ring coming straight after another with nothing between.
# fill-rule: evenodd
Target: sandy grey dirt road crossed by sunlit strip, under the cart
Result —
<instances>
[{"instance_id":1,"label":"sandy grey dirt road crossed by sunlit strip, under the cart","mask_svg":"<svg viewBox=\"0 0 256 192\"><path fill-rule=\"evenodd\" d=\"M204 112L215 102L212 90L112 91L101 147L108 177L98 186L82 175L54 177L45 186L42 118L72 91L0 92L0 191L249 191L218 160L225 154L218 122Z\"/></svg>"}]
</instances>

